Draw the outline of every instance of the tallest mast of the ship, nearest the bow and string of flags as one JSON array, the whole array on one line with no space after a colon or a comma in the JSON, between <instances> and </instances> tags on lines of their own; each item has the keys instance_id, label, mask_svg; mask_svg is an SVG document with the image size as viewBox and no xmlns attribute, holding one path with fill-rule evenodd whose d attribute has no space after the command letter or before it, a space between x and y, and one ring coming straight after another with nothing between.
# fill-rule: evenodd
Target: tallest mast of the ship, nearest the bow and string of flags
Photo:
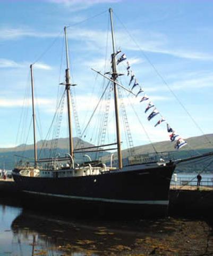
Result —
<instances>
[{"instance_id":1,"label":"tallest mast of the ship, nearest the bow and string of flags","mask_svg":"<svg viewBox=\"0 0 213 256\"><path fill-rule=\"evenodd\" d=\"M115 121L116 121L116 135L117 135L117 157L118 157L118 164L119 169L122 168L122 155L121 155L121 135L120 135L120 123L119 123L119 111L118 111L118 99L117 99L117 70L116 70L116 53L115 53L115 37L114 37L114 25L113 25L113 10L112 8L109 9L110 13L110 21L111 21L111 31L112 31L112 44L113 44L113 53L112 53L112 79L114 81L114 103L115 103Z\"/></svg>"}]
</instances>

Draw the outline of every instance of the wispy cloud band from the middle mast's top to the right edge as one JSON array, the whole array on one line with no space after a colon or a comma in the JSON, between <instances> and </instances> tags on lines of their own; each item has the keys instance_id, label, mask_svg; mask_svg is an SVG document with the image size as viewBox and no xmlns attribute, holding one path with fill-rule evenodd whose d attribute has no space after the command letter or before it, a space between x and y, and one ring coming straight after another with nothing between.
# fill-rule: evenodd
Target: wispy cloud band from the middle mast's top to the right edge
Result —
<instances>
[{"instance_id":1,"label":"wispy cloud band from the middle mast's top to the right edge","mask_svg":"<svg viewBox=\"0 0 213 256\"><path fill-rule=\"evenodd\" d=\"M83 40L87 43L90 50L103 49L106 45L106 33L102 30L89 30L89 29L73 29L70 28L71 33L69 33L69 38L76 40ZM137 42L135 44L132 38L126 36L126 34L121 31L116 31L116 42L117 46L122 46L122 49L132 50L132 51L144 51L153 52L160 54L172 55L178 58L185 59L198 59L198 60L213 60L213 55L198 51L188 51L180 49L169 49L168 38L164 34L159 33L149 33L149 37L146 33L140 30L132 30L132 37ZM142 38L142 39L140 39ZM119 43L122 42L122 45ZM167 46L168 49L165 47ZM136 60L137 61L137 60Z\"/></svg>"}]
</instances>

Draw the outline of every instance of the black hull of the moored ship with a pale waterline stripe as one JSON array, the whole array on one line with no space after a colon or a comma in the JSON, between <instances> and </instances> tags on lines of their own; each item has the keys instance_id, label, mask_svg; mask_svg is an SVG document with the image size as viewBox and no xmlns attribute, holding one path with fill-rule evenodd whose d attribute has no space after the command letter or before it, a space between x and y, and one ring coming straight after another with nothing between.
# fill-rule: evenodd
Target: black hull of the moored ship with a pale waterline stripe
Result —
<instances>
[{"instance_id":1,"label":"black hull of the moored ship with a pale waterline stripe","mask_svg":"<svg viewBox=\"0 0 213 256\"><path fill-rule=\"evenodd\" d=\"M142 165L140 165L142 166ZM165 217L175 165L155 165L99 175L66 178L26 177L13 173L23 203L80 215Z\"/></svg>"}]
</instances>

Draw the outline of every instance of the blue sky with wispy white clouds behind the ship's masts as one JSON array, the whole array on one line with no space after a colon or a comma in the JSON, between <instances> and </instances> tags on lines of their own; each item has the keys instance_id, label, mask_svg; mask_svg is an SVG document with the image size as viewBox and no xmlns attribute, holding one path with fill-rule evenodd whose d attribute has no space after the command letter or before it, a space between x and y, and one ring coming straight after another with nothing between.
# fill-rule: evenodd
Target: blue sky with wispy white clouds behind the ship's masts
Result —
<instances>
[{"instance_id":1,"label":"blue sky with wispy white clouds behind the ship's masts","mask_svg":"<svg viewBox=\"0 0 213 256\"><path fill-rule=\"evenodd\" d=\"M142 95L135 98L123 92L134 146L168 140L166 123L182 138L212 133L213 1L3 0L0 1L0 148L33 141L31 63L34 63L37 140L50 138L47 132L64 90L59 85L64 82L66 67L64 26L69 26L71 79L77 84L72 87L72 94L84 130L101 89L107 85L106 79L91 68L103 73L110 71L109 7L114 14L116 50L126 54L140 86L166 119L154 127L160 115L150 122L147 120L144 109L148 101L140 103ZM118 72L126 73L126 61L118 65ZM123 76L120 82L129 87L129 77ZM104 99L100 110L106 108L107 96ZM113 99L109 102L113 103ZM105 140L109 143L116 140L111 105ZM85 140L96 143L101 118L103 115L99 114L92 119L83 135ZM121 118L121 126L122 123ZM66 109L59 136L67 136ZM122 141L125 148L124 132Z\"/></svg>"}]
</instances>

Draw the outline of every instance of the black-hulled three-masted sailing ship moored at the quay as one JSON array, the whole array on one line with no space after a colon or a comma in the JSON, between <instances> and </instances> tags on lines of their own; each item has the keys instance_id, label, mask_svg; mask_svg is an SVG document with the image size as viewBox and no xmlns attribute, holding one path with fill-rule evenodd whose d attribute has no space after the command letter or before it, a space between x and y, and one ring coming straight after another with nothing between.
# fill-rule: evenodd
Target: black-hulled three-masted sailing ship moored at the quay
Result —
<instances>
[{"instance_id":1,"label":"black-hulled three-masted sailing ship moored at the quay","mask_svg":"<svg viewBox=\"0 0 213 256\"><path fill-rule=\"evenodd\" d=\"M65 89L67 97L67 113L69 121L69 154L65 157L51 159L38 159L36 145L36 124L35 109L33 101L33 70L31 70L32 87L32 114L34 132L34 166L17 166L13 170L13 179L22 193L27 196L26 202L41 203L46 205L59 203L65 205L66 210L79 210L89 213L94 210L96 213L109 215L140 215L140 217L163 217L167 214L169 204L169 186L175 161L150 161L147 163L123 165L120 121L118 108L117 87L117 61L114 39L113 12L109 9L111 34L112 34L112 72L111 77L104 77L113 84L115 121L116 121L116 146L118 155L118 167L107 166L98 161L91 161L84 164L76 164L74 161L74 147L72 140L72 116L70 90L72 87L70 79L70 64L68 54L68 42L66 27L66 70ZM99 73L99 72L98 72ZM155 114L155 113L154 113ZM104 146L100 145L100 151ZM81 152L88 152L97 147L81 148ZM78 150L78 149L76 149ZM98 151L98 150L97 150ZM69 164L58 164L59 161L69 161ZM39 164L49 163L41 168ZM33 198L31 201L29 198ZM38 198L38 200L37 200Z\"/></svg>"}]
</instances>

